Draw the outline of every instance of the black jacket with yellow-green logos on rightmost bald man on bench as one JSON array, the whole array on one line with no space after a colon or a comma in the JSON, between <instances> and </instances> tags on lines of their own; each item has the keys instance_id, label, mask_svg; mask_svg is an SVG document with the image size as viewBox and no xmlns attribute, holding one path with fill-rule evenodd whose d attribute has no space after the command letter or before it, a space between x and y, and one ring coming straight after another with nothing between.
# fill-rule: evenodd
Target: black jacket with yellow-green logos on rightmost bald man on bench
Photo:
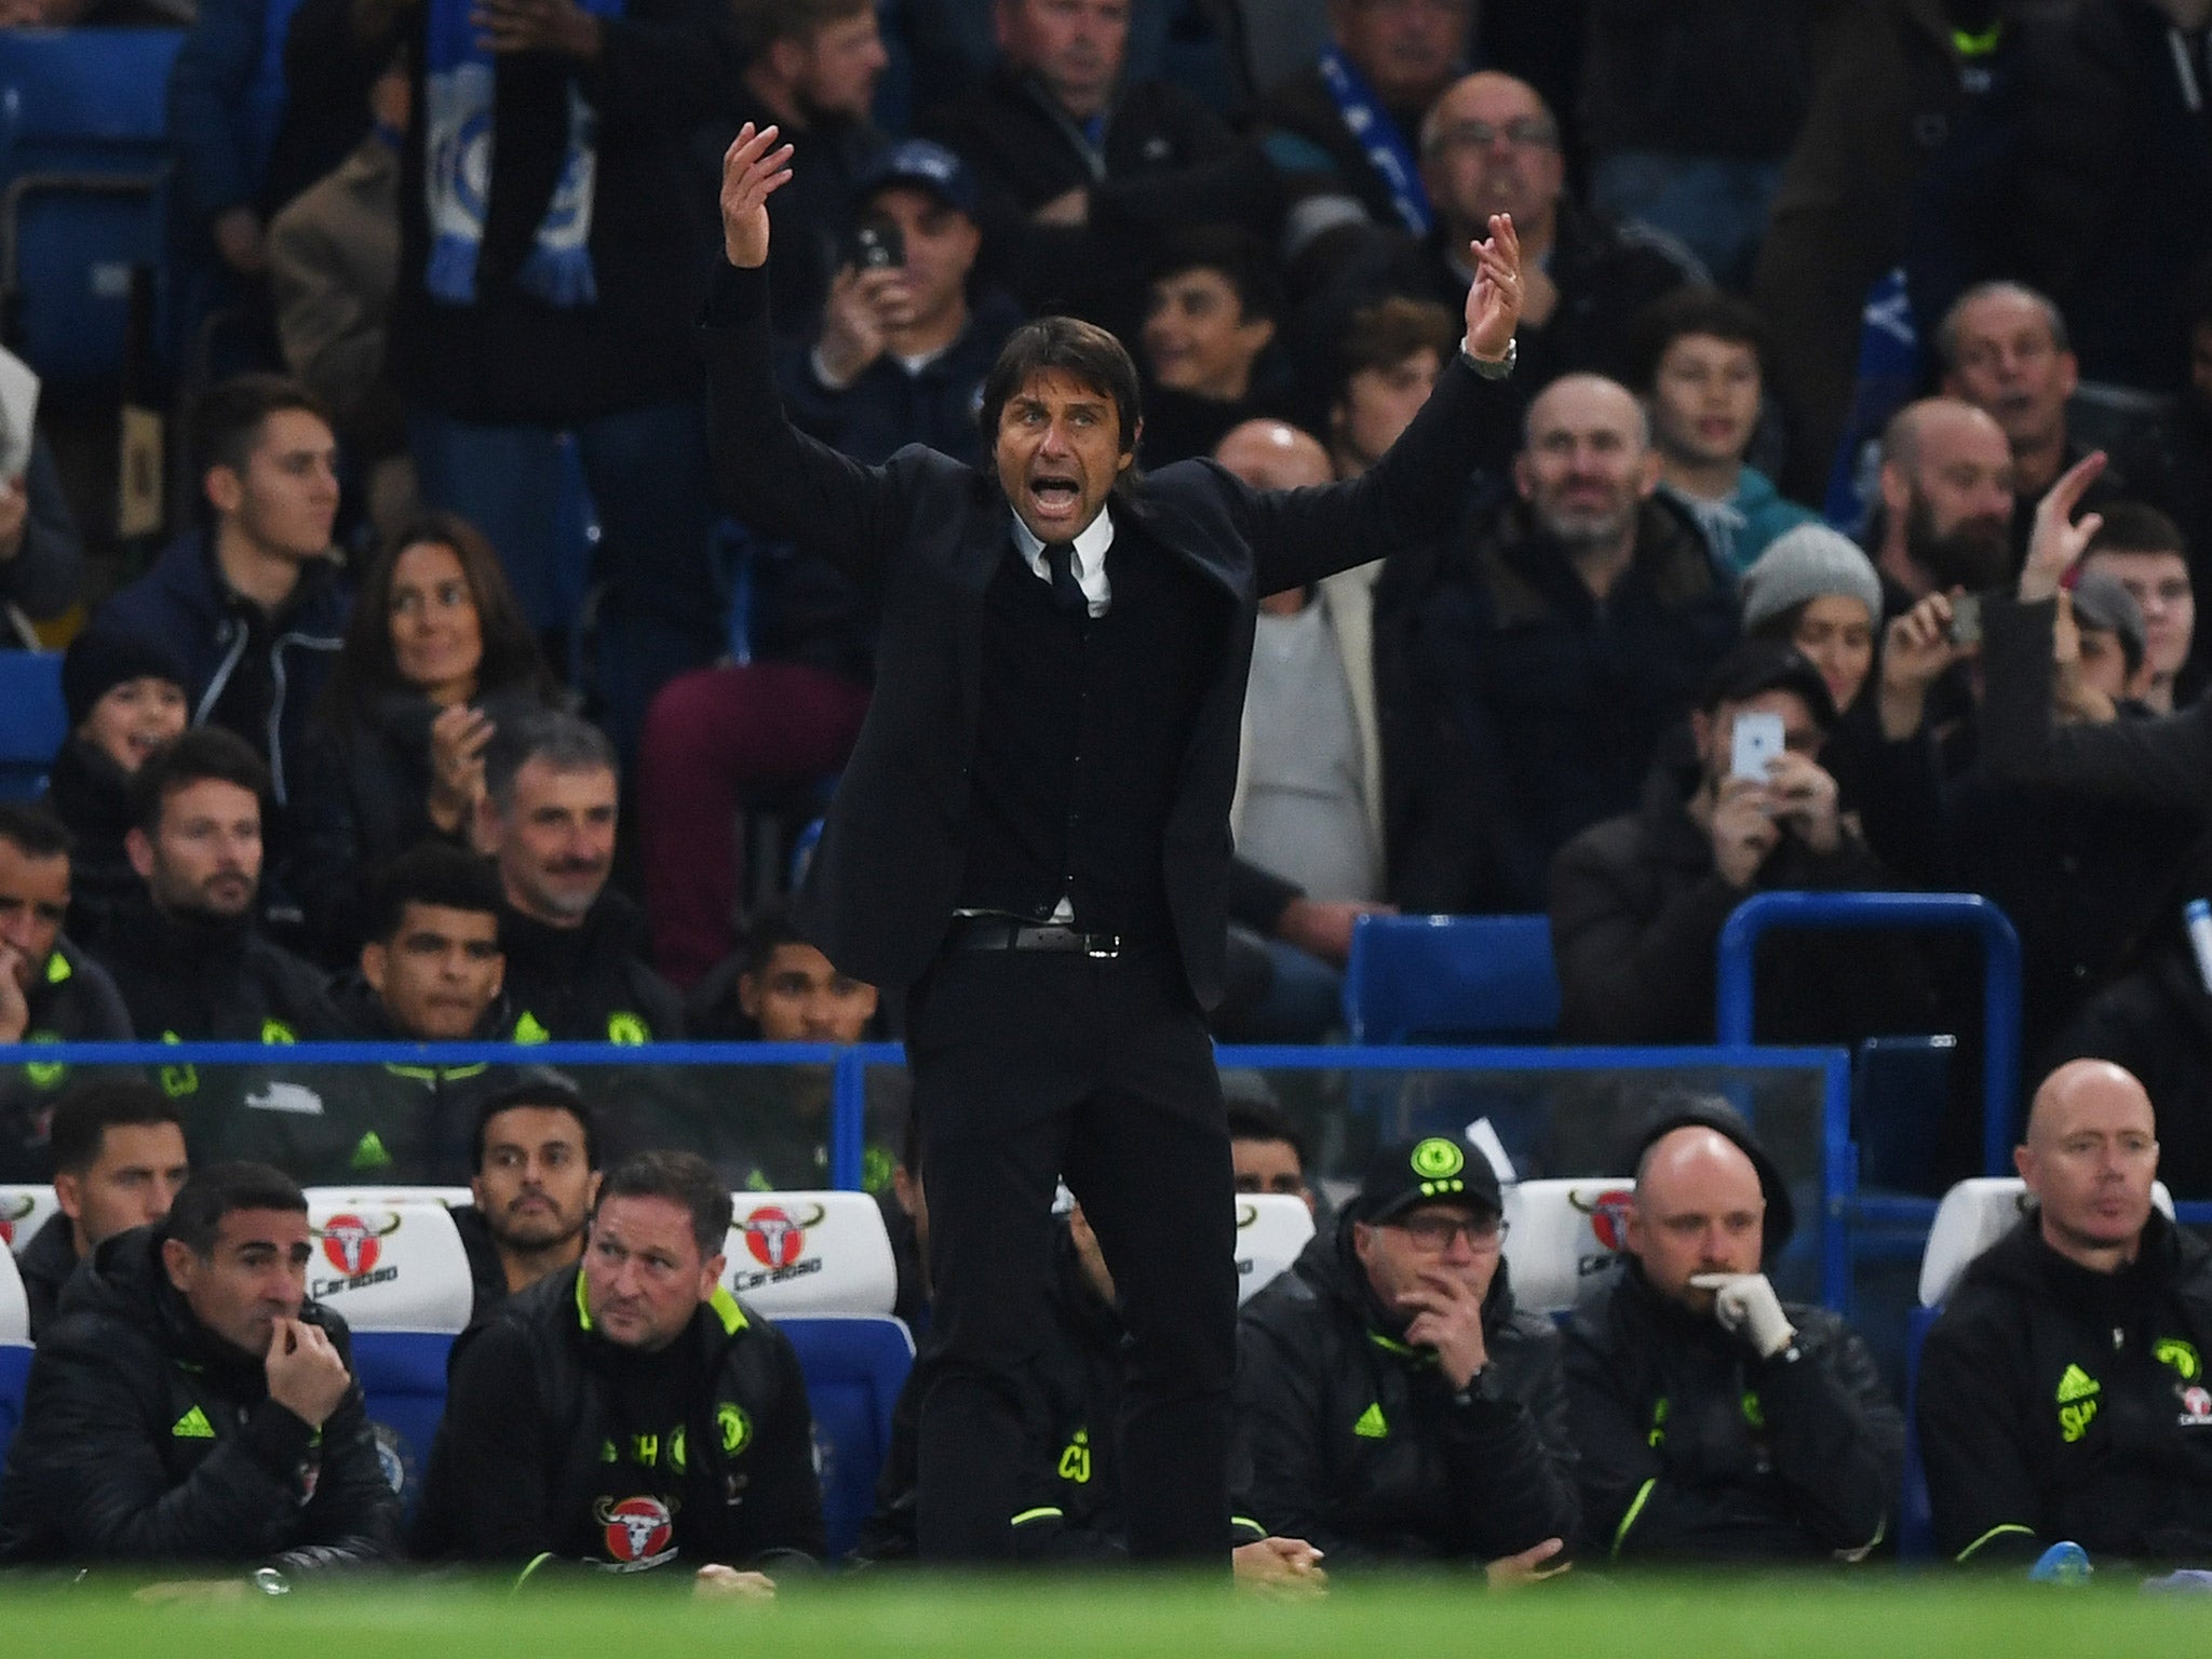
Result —
<instances>
[{"instance_id":1,"label":"black jacket with yellow-green logos on rightmost bald man on bench","mask_svg":"<svg viewBox=\"0 0 2212 1659\"><path fill-rule=\"evenodd\" d=\"M1920 1354L1936 1548L2212 1564L2212 1248L2152 1212L2117 1274L2026 1217L1966 1267Z\"/></svg>"}]
</instances>

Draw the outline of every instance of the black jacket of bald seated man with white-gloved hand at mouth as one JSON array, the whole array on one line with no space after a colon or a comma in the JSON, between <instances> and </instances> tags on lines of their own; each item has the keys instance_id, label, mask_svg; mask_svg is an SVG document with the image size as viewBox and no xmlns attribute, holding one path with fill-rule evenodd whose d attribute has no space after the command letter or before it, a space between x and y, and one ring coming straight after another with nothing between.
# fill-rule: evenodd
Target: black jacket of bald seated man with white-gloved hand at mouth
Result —
<instances>
[{"instance_id":1,"label":"black jacket of bald seated man with white-gloved hand at mouth","mask_svg":"<svg viewBox=\"0 0 2212 1659\"><path fill-rule=\"evenodd\" d=\"M1905 1416L1834 1314L1785 1303L1774 1360L1659 1296L1630 1261L1566 1329L1590 1555L1863 1559L1889 1535Z\"/></svg>"}]
</instances>

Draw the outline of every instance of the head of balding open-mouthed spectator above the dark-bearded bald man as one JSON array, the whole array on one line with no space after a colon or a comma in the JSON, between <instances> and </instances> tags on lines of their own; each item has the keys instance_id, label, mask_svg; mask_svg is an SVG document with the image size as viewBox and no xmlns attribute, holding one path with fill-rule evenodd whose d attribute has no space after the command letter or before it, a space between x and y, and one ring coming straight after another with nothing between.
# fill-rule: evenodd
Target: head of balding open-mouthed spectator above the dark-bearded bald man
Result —
<instances>
[{"instance_id":1,"label":"head of balding open-mouthed spectator above the dark-bearded bald man","mask_svg":"<svg viewBox=\"0 0 2212 1659\"><path fill-rule=\"evenodd\" d=\"M1936 330L1942 392L1989 414L2013 449L2013 553L2026 555L2035 502L2088 449L2066 431L2066 400L2081 367L2059 307L2020 283L1980 283L1944 312ZM2115 473L2090 500L2112 495Z\"/></svg>"}]
</instances>

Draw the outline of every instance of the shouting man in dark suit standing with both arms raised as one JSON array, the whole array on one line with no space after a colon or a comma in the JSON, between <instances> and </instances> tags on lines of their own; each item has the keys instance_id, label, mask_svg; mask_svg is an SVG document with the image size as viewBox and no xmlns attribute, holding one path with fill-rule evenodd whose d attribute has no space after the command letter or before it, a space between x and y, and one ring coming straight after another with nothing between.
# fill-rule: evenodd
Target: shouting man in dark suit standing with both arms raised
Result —
<instances>
[{"instance_id":1,"label":"shouting man in dark suit standing with both arms raised","mask_svg":"<svg viewBox=\"0 0 2212 1659\"><path fill-rule=\"evenodd\" d=\"M776 405L768 197L787 161L774 128L723 159L714 449L739 515L883 604L876 697L799 920L845 973L907 987L938 1358L920 1553L1006 1553L1064 1177L1130 1332L1130 1555L1225 1571L1234 1183L1201 1009L1221 995L1254 606L1442 533L1480 378L1511 367L1513 226L1475 252L1480 363L1447 369L1356 482L1261 491L1212 462L1139 480L1135 367L1071 319L1015 330L984 380L991 473L920 447L863 467Z\"/></svg>"}]
</instances>

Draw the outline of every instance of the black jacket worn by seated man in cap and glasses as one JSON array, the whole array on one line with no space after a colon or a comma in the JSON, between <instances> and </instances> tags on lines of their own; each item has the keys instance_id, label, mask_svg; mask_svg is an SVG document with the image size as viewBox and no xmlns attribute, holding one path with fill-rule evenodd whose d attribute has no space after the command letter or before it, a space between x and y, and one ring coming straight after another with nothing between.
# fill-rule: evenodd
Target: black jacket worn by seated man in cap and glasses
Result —
<instances>
[{"instance_id":1,"label":"black jacket worn by seated man in cap and glasses","mask_svg":"<svg viewBox=\"0 0 2212 1659\"><path fill-rule=\"evenodd\" d=\"M1504 1263L1482 1305L1489 1367L1455 1396L1367 1290L1345 1217L1237 1327L1245 1513L1329 1571L1493 1562L1577 1531L1559 1336L1513 1307Z\"/></svg>"}]
</instances>

